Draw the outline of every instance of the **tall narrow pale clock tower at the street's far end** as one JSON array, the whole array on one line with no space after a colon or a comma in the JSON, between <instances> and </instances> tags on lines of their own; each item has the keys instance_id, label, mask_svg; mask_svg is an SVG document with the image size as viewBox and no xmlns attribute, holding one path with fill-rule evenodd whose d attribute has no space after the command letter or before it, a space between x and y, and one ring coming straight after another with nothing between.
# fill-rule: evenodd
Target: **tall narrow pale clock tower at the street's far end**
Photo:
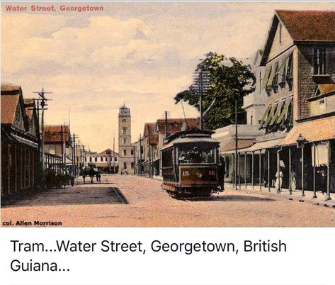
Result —
<instances>
[{"instance_id":1,"label":"tall narrow pale clock tower at the street's far end","mask_svg":"<svg viewBox=\"0 0 335 285\"><path fill-rule=\"evenodd\" d=\"M119 172L120 173L132 173L135 172L135 146L132 145L131 137L131 116L130 108L125 105L120 107L118 116L118 127L119 127Z\"/></svg>"}]
</instances>

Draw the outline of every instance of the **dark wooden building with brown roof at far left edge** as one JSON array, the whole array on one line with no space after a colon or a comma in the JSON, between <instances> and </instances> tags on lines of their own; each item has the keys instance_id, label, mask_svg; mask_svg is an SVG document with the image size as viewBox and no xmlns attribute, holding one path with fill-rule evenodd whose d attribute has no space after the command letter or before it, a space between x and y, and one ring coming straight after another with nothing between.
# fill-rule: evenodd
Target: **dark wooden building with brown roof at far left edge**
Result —
<instances>
[{"instance_id":1,"label":"dark wooden building with brown roof at far left edge","mask_svg":"<svg viewBox=\"0 0 335 285\"><path fill-rule=\"evenodd\" d=\"M1 196L40 186L39 125L35 102L21 86L1 85Z\"/></svg>"}]
</instances>

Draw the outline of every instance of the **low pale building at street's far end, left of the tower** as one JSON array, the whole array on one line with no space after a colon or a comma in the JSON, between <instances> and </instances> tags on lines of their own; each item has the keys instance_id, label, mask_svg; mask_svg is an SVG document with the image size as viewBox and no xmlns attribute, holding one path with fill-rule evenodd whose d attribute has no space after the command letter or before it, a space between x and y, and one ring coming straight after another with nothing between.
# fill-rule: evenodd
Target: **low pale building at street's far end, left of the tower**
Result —
<instances>
[{"instance_id":1,"label":"low pale building at street's far end, left of the tower","mask_svg":"<svg viewBox=\"0 0 335 285\"><path fill-rule=\"evenodd\" d=\"M84 166L96 167L101 173L117 173L119 168L119 154L110 148L103 152L85 152Z\"/></svg>"}]
</instances>

